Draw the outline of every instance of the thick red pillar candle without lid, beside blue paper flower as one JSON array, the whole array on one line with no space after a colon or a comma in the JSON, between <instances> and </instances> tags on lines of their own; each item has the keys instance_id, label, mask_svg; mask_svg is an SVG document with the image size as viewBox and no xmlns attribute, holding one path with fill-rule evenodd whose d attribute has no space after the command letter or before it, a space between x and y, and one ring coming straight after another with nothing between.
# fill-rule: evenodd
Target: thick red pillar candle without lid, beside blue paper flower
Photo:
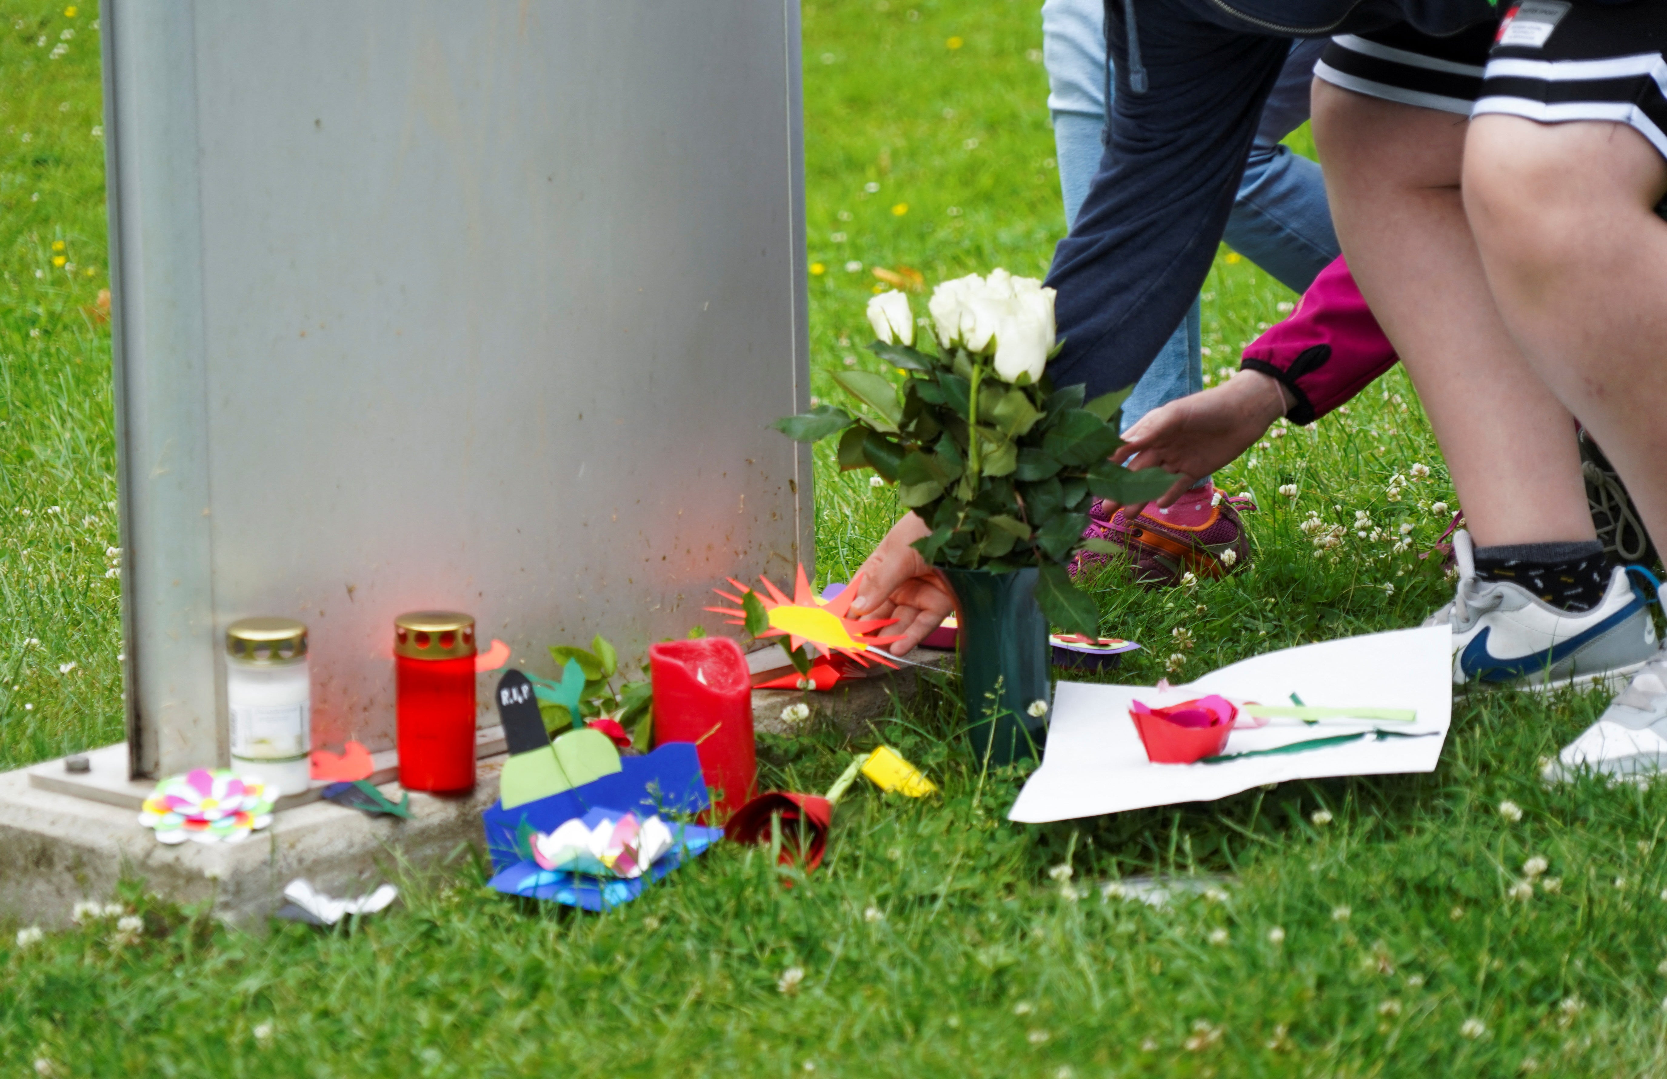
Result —
<instances>
[{"instance_id":1,"label":"thick red pillar candle without lid, beside blue paper flower","mask_svg":"<svg viewBox=\"0 0 1667 1079\"><path fill-rule=\"evenodd\" d=\"M715 819L728 819L758 784L747 657L728 637L667 640L648 649L648 669L653 744L693 742Z\"/></svg>"}]
</instances>

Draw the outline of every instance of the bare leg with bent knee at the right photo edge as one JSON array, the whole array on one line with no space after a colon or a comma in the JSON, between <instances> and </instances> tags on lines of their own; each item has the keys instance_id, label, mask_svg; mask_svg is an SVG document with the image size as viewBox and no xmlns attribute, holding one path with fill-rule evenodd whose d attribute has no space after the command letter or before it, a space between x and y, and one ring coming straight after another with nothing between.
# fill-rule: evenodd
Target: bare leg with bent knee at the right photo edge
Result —
<instances>
[{"instance_id":1,"label":"bare leg with bent knee at the right photo edge","mask_svg":"<svg viewBox=\"0 0 1667 1079\"><path fill-rule=\"evenodd\" d=\"M1464 192L1505 327L1667 539L1667 162L1622 123L1484 115Z\"/></svg>"}]
</instances>

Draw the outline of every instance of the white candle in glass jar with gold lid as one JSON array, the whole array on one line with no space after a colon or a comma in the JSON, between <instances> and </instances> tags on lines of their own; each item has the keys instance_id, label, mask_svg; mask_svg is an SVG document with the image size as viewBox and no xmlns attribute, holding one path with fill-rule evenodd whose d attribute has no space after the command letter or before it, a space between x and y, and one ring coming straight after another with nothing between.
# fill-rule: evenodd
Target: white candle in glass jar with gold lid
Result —
<instances>
[{"instance_id":1,"label":"white candle in glass jar with gold lid","mask_svg":"<svg viewBox=\"0 0 1667 1079\"><path fill-rule=\"evenodd\" d=\"M242 619L227 627L225 702L232 770L280 794L305 790L312 750L307 627L293 619Z\"/></svg>"}]
</instances>

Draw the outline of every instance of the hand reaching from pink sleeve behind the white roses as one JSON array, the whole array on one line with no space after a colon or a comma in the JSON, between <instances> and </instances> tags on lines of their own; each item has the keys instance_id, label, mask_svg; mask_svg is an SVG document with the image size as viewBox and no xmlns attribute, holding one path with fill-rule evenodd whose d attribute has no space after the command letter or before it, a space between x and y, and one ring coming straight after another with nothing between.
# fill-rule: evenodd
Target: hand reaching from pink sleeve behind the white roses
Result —
<instances>
[{"instance_id":1,"label":"hand reaching from pink sleeve behind the white roses","mask_svg":"<svg viewBox=\"0 0 1667 1079\"><path fill-rule=\"evenodd\" d=\"M1112 454L1125 464L1139 455L1142 469L1165 469L1179 475L1157 500L1174 505L1200 475L1232 464L1267 434L1290 404L1279 379L1259 370L1240 370L1219 387L1175 399L1152 409L1124 435ZM1109 504L1107 509L1115 509ZM1124 507L1134 517L1145 504Z\"/></svg>"}]
</instances>

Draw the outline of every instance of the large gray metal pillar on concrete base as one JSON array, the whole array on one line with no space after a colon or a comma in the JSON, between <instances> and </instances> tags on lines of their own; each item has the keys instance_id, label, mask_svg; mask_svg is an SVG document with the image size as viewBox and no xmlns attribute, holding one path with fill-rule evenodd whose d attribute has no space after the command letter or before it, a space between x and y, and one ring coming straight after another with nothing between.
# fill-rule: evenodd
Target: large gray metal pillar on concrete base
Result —
<instances>
[{"instance_id":1,"label":"large gray metal pillar on concrete base","mask_svg":"<svg viewBox=\"0 0 1667 1079\"><path fill-rule=\"evenodd\" d=\"M232 620L393 740L392 620L632 655L808 562L793 0L105 0L135 775Z\"/></svg>"}]
</instances>

